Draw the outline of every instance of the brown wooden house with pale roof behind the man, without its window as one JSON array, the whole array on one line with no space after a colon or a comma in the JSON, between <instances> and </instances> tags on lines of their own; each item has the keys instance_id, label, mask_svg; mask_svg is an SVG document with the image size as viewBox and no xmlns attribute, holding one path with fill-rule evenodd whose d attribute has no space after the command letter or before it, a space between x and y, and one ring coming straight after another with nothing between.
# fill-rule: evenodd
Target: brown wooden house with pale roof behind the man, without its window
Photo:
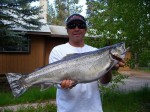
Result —
<instances>
[{"instance_id":1,"label":"brown wooden house with pale roof behind the man, without its window","mask_svg":"<svg viewBox=\"0 0 150 112\"><path fill-rule=\"evenodd\" d=\"M68 41L64 26L47 25L39 31L27 31L27 36L29 48L26 52L0 52L0 74L27 74L47 65L52 48Z\"/></svg>"}]
</instances>

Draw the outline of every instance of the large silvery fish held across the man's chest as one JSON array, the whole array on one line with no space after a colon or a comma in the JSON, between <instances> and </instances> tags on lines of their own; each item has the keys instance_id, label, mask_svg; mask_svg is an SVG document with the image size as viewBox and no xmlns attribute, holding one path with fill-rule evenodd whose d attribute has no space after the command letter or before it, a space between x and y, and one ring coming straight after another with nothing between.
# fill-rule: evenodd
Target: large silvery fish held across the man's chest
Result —
<instances>
[{"instance_id":1,"label":"large silvery fish held across the man's chest","mask_svg":"<svg viewBox=\"0 0 150 112\"><path fill-rule=\"evenodd\" d=\"M68 55L25 76L16 73L6 76L13 95L18 97L36 84L57 85L64 79L74 80L75 84L96 81L117 64L114 55L124 58L125 53L125 43L118 43L91 52Z\"/></svg>"}]
</instances>

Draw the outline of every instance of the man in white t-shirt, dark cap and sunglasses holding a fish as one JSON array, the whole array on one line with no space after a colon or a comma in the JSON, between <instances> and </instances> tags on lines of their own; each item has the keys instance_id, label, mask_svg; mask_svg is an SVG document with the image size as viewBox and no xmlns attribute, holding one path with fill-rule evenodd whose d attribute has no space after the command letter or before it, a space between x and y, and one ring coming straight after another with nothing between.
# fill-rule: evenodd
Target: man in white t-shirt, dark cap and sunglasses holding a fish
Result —
<instances>
[{"instance_id":1,"label":"man in white t-shirt, dark cap and sunglasses holding a fish","mask_svg":"<svg viewBox=\"0 0 150 112\"><path fill-rule=\"evenodd\" d=\"M80 14L73 14L66 21L69 42L53 48L49 56L49 63L61 60L68 54L83 53L96 50L84 43L87 31L85 18ZM120 61L116 68L123 66ZM111 72L105 74L101 79L102 84L107 84L112 78ZM63 80L57 89L57 112L103 112L98 82L77 84L72 87L73 80Z\"/></svg>"}]
</instances>

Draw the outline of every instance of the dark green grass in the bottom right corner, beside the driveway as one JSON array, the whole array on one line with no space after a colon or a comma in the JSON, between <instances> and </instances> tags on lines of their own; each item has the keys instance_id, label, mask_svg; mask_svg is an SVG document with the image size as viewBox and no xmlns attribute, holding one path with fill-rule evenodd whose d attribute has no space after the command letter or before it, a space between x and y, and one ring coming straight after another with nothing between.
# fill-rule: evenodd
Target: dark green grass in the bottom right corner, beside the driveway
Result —
<instances>
[{"instance_id":1,"label":"dark green grass in the bottom right corner, beside the driveway","mask_svg":"<svg viewBox=\"0 0 150 112\"><path fill-rule=\"evenodd\" d=\"M109 92L103 97L104 112L150 112L148 87L129 93Z\"/></svg>"}]
</instances>

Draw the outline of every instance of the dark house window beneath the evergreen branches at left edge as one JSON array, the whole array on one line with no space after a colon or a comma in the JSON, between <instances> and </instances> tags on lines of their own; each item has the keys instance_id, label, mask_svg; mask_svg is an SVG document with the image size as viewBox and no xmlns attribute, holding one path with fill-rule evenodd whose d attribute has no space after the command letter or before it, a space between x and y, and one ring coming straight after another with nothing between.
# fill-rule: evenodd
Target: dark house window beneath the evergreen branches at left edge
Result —
<instances>
[{"instance_id":1,"label":"dark house window beneath the evergreen branches at left edge","mask_svg":"<svg viewBox=\"0 0 150 112\"><path fill-rule=\"evenodd\" d=\"M30 51L30 38L22 36L20 38L5 38L0 44L0 52L29 52Z\"/></svg>"}]
</instances>

